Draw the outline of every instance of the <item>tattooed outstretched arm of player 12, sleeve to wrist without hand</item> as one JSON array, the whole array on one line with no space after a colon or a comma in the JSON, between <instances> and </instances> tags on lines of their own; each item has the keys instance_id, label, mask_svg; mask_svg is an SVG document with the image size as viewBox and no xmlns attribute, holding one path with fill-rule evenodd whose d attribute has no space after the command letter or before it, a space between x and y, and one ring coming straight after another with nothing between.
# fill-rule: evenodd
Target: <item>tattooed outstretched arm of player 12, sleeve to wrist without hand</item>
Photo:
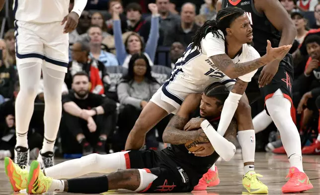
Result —
<instances>
[{"instance_id":1,"label":"tattooed outstretched arm of player 12, sleeve to wrist without hand","mask_svg":"<svg viewBox=\"0 0 320 195\"><path fill-rule=\"evenodd\" d=\"M265 55L252 61L235 64L227 54L211 56L210 59L224 74L231 79L236 79L264 66L272 61Z\"/></svg>"}]
</instances>

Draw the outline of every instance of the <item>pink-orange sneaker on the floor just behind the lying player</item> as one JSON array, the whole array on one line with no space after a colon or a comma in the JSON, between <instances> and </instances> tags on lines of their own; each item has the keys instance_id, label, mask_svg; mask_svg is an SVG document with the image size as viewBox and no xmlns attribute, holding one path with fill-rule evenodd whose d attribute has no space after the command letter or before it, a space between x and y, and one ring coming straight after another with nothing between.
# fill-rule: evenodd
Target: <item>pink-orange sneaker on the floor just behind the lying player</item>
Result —
<instances>
[{"instance_id":1,"label":"pink-orange sneaker on the floor just behind the lying player","mask_svg":"<svg viewBox=\"0 0 320 195\"><path fill-rule=\"evenodd\" d=\"M215 166L215 171L211 169L207 173L203 174L199 180L199 184L193 188L194 191L206 190L207 187L214 187L220 183L218 168Z\"/></svg>"}]
</instances>

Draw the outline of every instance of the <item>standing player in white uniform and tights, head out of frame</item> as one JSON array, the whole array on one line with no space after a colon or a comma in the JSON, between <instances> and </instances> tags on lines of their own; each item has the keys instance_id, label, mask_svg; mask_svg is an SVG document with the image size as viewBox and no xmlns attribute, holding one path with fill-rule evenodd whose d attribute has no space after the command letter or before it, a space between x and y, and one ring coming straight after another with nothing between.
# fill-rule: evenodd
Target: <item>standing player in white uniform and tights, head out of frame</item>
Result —
<instances>
[{"instance_id":1,"label":"standing player in white uniform and tights, head out of frame","mask_svg":"<svg viewBox=\"0 0 320 195\"><path fill-rule=\"evenodd\" d=\"M0 5L4 0L1 0ZM38 161L53 166L53 148L61 112L61 89L68 66L69 32L78 24L87 0L14 0L15 54L20 92L15 101L14 160L21 168L29 161L27 132L39 88L44 80L44 141Z\"/></svg>"}]
</instances>

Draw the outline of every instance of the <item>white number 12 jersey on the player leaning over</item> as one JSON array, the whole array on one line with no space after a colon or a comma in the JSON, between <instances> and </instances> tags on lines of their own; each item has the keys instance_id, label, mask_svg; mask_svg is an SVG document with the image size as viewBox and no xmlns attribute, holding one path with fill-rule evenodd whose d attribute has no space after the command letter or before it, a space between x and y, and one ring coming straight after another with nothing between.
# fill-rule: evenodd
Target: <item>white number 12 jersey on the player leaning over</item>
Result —
<instances>
[{"instance_id":1,"label":"white number 12 jersey on the player leaning over","mask_svg":"<svg viewBox=\"0 0 320 195\"><path fill-rule=\"evenodd\" d=\"M197 48L191 49L191 43L183 56L175 63L175 68L169 80L173 81L178 79L183 81L180 83L181 85L185 84L184 87L197 88L199 90L204 89L214 82L221 82L226 87L235 84L235 80L225 75L209 59L209 57L214 55L225 54L225 47L225 40L221 37L214 36L211 32L201 41L202 52ZM243 63L259 57L259 53L252 46L243 44L241 52L239 52L232 61L234 63ZM228 85L228 83L230 83L230 85Z\"/></svg>"}]
</instances>

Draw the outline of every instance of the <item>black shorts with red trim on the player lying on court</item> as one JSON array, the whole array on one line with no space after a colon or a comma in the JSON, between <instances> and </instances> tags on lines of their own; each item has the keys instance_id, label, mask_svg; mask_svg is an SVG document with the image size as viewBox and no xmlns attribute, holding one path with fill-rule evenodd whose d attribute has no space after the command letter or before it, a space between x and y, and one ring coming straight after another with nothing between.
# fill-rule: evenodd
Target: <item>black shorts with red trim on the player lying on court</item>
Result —
<instances>
[{"instance_id":1,"label":"black shorts with red trim on the player lying on court","mask_svg":"<svg viewBox=\"0 0 320 195\"><path fill-rule=\"evenodd\" d=\"M145 169L158 178L139 193L184 193L193 186L189 176L170 159L160 159L154 150L133 150L125 154L127 169Z\"/></svg>"}]
</instances>

